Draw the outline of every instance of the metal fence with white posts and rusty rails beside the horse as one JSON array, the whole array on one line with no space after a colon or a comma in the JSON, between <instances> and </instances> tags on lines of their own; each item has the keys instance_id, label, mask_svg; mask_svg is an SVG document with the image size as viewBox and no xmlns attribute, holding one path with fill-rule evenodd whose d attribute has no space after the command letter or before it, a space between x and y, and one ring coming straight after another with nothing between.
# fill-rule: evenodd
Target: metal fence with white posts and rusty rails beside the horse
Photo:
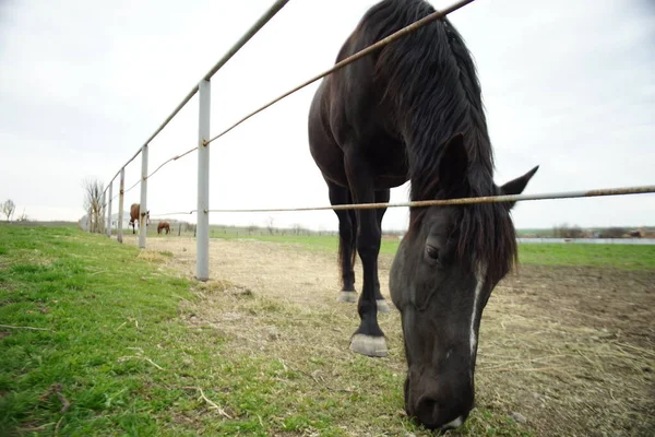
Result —
<instances>
[{"instance_id":1,"label":"metal fence with white posts and rusty rails beside the horse","mask_svg":"<svg viewBox=\"0 0 655 437\"><path fill-rule=\"evenodd\" d=\"M237 122L231 125L229 128L219 132L218 134L211 137L210 134L210 113L211 113L211 79L212 76L241 48L248 43L252 36L254 36L277 12L279 12L288 0L277 0L274 4L243 34L241 38L221 58L218 62L202 76L200 82L191 88L187 96L181 103L172 110L172 113L164 120L164 122L153 132L153 134L143 143L143 145L128 160L128 162L120 167L118 173L111 178L107 189L103 196L104 205L104 222L107 223L107 236L111 236L111 208L112 200L118 197L118 241L122 243L122 223L123 223L123 209L124 209L124 193L141 186L141 200L140 210L141 214L139 217L139 247L145 248L146 243L146 211L147 211L147 180L153 177L162 167L174 163L192 152L198 151L198 206L193 211L187 211L184 213L198 213L198 231L196 231L196 267L195 277L200 281L206 281L210 277L210 213L211 212L263 212L263 211L315 211L315 210L345 210L345 209L376 209L376 208L400 208L400 206L431 206L431 205L445 205L445 204L468 204L468 203L483 203L483 202L514 202L514 201L526 201L526 200L546 200L546 199L565 199L565 198L582 198L582 197L599 197L599 196L624 196L624 194L638 194L638 193L652 193L655 192L655 186L645 187L628 187L628 188L612 188L604 190L591 190L591 191L571 191L560 193L540 193L540 194L520 194L520 196L498 196L498 197L485 197L485 198L468 198L468 199L450 199L450 200L431 200L431 201L417 201L417 202L403 202L403 203L368 203L368 204L346 204L336 206L300 206L300 208L285 208L285 209L259 209L259 210L211 210L210 209L210 143L216 141L243 121L248 120L255 114L263 111L275 103L283 98L294 94L295 92L306 87L307 85L331 74L332 72L344 68L345 66L355 62L376 50L389 45L390 43L402 38L403 36L417 31L418 28L430 24L445 15L454 12L464 5L472 3L474 0L461 0L451 7L437 11L395 33L383 38L382 40L358 51L357 54L335 63L332 68L324 72L309 79L308 81L299 84L298 86L289 90L282 94L275 99L266 103L260 108L249 113L247 116L240 118ZM199 114L199 139L198 145L190 149L179 155L175 155L164 163L162 163L154 172L148 174L148 145L153 139L168 125L170 120L182 109L182 107L195 95L199 94L200 101L200 114ZM124 189L124 176L126 166L134 161L141 154L141 178L134 185L127 190ZM119 178L119 193L112 196L112 187L116 178ZM172 214L172 213L170 213ZM165 215L165 214L159 214Z\"/></svg>"}]
</instances>

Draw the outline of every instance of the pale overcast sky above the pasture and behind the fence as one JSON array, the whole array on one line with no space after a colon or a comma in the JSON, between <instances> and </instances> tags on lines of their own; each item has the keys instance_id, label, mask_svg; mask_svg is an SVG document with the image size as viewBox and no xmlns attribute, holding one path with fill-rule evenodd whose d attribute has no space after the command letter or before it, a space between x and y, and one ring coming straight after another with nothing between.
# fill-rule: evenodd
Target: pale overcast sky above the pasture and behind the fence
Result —
<instances>
[{"instance_id":1,"label":"pale overcast sky above the pasture and behind the fence","mask_svg":"<svg viewBox=\"0 0 655 437\"><path fill-rule=\"evenodd\" d=\"M82 180L107 182L272 3L0 0L0 201L32 218L78 220ZM212 134L331 67L373 3L291 0L212 80ZM655 184L654 1L478 0L450 17L477 64L498 184L535 165L525 193ZM211 145L212 209L329 204L307 141L317 86ZM194 97L151 143L151 170L196 144L196 120ZM195 209L196 164L193 153L148 180L151 214ZM127 187L140 172L138 158ZM405 185L391 200L407 194ZM126 209L132 202L139 188ZM211 222L269 216L337 226L331 211ZM655 196L523 202L513 216L523 228L655 225ZM393 209L383 227L406 221L406 209Z\"/></svg>"}]
</instances>

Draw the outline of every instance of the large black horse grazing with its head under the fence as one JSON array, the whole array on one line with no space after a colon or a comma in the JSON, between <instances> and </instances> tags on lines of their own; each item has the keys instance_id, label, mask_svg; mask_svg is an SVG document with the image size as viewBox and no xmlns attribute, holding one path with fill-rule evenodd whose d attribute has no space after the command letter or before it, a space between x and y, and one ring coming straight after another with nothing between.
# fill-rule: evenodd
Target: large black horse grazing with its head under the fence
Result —
<instances>
[{"instance_id":1,"label":"large black horse grazing with its head under the fence","mask_svg":"<svg viewBox=\"0 0 655 437\"><path fill-rule=\"evenodd\" d=\"M373 5L337 61L434 12L422 0ZM333 205L385 202L410 181L412 200L523 191L538 167L502 187L473 59L443 19L332 73L309 113L311 154ZM402 314L408 371L405 409L429 428L461 425L474 406L474 369L483 308L516 260L510 203L410 209L409 228L390 277ZM354 302L355 247L364 279L359 328L350 349L386 355L378 311L378 253L384 209L336 211L343 290Z\"/></svg>"}]
</instances>

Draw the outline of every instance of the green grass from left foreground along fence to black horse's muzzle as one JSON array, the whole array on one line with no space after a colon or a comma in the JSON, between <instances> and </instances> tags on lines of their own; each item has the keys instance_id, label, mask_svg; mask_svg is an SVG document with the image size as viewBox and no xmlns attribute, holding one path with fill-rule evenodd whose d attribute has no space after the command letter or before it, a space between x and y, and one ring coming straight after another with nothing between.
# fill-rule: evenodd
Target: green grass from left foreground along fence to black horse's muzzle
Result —
<instances>
[{"instance_id":1,"label":"green grass from left foreground along fence to black horse's muzzle","mask_svg":"<svg viewBox=\"0 0 655 437\"><path fill-rule=\"evenodd\" d=\"M355 425L421 433L397 414L402 378L384 362L346 347L347 359L317 353L287 367L275 354L236 353L221 330L190 327L182 308L206 303L166 267L170 258L72 227L0 225L0 435L346 436ZM332 331L314 316L297 321L284 303L240 298L248 314ZM335 368L353 392L308 376ZM526 435L484 409L464 434Z\"/></svg>"}]
</instances>

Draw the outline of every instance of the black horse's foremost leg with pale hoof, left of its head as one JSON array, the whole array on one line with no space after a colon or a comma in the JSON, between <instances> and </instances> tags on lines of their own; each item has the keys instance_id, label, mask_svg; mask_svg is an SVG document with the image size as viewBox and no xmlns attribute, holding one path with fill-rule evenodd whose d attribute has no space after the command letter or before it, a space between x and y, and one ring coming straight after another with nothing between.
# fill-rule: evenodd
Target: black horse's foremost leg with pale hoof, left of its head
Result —
<instances>
[{"instance_id":1,"label":"black horse's foremost leg with pale hoof, left of its head","mask_svg":"<svg viewBox=\"0 0 655 437\"><path fill-rule=\"evenodd\" d=\"M346 174L356 203L374 201L372 173L359 155L346 157ZM382 233L376 210L357 210L357 251L364 270L362 290L357 310L360 323L350 340L350 350L368 356L386 356L386 341L378 324L378 253Z\"/></svg>"}]
</instances>

